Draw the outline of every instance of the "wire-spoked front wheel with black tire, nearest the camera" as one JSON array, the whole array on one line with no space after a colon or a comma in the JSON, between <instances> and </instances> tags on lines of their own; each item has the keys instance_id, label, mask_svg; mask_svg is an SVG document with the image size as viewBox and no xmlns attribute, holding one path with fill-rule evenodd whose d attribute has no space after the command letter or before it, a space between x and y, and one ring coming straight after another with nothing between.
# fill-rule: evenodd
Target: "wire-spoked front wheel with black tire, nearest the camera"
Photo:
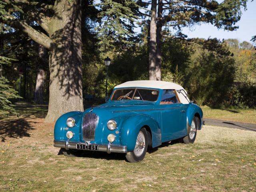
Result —
<instances>
[{"instance_id":1,"label":"wire-spoked front wheel with black tire, nearest the camera","mask_svg":"<svg viewBox=\"0 0 256 192\"><path fill-rule=\"evenodd\" d=\"M142 138L142 135L140 134L143 134L144 136L144 139ZM138 144L137 143L137 140L138 139L141 139L144 140L140 140L142 141L142 143ZM144 142L144 143L143 143ZM137 148L136 148L137 146ZM140 149L142 148L142 149ZM146 155L146 152L147 152L147 149L148 149L148 135L147 135L147 131L145 128L141 128L140 129L140 132L138 133L138 136L137 136L137 139L136 139L136 145L135 145L135 148L133 151L130 151L130 152L127 152L126 154L126 159L131 162L131 163L134 163L134 162L139 162L141 160L144 159L145 155ZM135 152L134 152L135 151Z\"/></svg>"}]
</instances>

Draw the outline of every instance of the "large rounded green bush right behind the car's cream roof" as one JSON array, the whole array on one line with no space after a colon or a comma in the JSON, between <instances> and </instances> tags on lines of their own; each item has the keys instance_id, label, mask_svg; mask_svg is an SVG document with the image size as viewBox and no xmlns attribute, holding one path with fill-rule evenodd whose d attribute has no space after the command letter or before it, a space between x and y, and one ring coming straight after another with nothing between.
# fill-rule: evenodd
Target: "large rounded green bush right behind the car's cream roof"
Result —
<instances>
[{"instance_id":1,"label":"large rounded green bush right behind the car's cream roof","mask_svg":"<svg viewBox=\"0 0 256 192\"><path fill-rule=\"evenodd\" d=\"M200 105L223 102L235 75L228 47L216 39L167 39L162 67L162 79L170 71L173 81L183 85Z\"/></svg>"}]
</instances>

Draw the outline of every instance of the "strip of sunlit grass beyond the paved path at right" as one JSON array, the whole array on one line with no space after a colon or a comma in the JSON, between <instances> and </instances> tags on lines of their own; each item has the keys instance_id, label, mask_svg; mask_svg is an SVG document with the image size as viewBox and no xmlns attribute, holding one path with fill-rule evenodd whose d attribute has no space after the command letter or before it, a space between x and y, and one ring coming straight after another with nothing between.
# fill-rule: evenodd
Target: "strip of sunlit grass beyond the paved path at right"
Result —
<instances>
[{"instance_id":1,"label":"strip of sunlit grass beyond the paved path at right","mask_svg":"<svg viewBox=\"0 0 256 192\"><path fill-rule=\"evenodd\" d=\"M202 106L205 118L256 123L256 109L210 108Z\"/></svg>"}]
</instances>

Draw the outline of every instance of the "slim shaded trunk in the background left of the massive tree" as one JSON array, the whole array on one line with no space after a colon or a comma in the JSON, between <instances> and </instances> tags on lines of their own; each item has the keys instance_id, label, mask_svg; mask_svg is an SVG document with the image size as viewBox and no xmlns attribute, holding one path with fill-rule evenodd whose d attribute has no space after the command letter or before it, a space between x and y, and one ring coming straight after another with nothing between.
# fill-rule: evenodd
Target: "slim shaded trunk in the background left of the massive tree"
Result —
<instances>
[{"instance_id":1,"label":"slim shaded trunk in the background left of the massive tree","mask_svg":"<svg viewBox=\"0 0 256 192\"><path fill-rule=\"evenodd\" d=\"M44 66L46 64L46 48L42 45L39 45L38 48L39 55L39 63L38 63L38 71L36 75L36 88L35 88L35 103L42 104L43 103L43 91L44 91Z\"/></svg>"}]
</instances>

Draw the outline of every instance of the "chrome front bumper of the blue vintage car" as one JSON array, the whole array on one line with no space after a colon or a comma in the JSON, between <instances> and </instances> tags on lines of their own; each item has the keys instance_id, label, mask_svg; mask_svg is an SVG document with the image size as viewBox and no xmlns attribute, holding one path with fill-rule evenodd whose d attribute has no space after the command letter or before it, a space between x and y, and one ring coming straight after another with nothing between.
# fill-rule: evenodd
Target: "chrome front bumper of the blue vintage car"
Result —
<instances>
[{"instance_id":1,"label":"chrome front bumper of the blue vintage car","mask_svg":"<svg viewBox=\"0 0 256 192\"><path fill-rule=\"evenodd\" d=\"M78 142L70 142L68 140L66 141L56 141L54 140L54 147L60 147L60 148L65 148L66 150L68 149L76 149L76 144L85 144L85 143L78 143ZM99 146L99 151L104 151L107 153L127 153L127 147L123 145L113 145L110 142L107 145L99 145L99 144L94 144L90 143L89 145L98 145Z\"/></svg>"}]
</instances>

